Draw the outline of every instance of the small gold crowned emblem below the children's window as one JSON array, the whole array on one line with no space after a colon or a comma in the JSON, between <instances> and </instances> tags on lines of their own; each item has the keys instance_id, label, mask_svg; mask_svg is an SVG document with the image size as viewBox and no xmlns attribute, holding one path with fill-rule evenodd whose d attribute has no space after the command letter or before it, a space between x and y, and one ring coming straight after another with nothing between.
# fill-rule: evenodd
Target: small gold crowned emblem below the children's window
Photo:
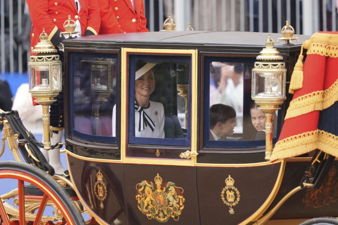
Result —
<instances>
[{"instance_id":1,"label":"small gold crowned emblem below the children's window","mask_svg":"<svg viewBox=\"0 0 338 225\"><path fill-rule=\"evenodd\" d=\"M235 180L229 175L225 179L225 187L221 191L221 197L224 204L229 206L229 213L234 214L232 206L238 204L240 200L240 193L238 189L234 186Z\"/></svg>"}]
</instances>

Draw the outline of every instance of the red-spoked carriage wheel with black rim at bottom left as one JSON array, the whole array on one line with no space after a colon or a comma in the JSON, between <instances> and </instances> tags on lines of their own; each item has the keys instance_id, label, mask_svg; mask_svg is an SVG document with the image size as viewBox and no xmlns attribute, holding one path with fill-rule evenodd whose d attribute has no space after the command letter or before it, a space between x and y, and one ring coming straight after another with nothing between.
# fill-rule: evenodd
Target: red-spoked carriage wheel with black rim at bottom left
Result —
<instances>
[{"instance_id":1,"label":"red-spoked carriage wheel with black rim at bottom left","mask_svg":"<svg viewBox=\"0 0 338 225\"><path fill-rule=\"evenodd\" d=\"M0 162L0 183L3 185L9 179L18 185L18 188L12 191L17 193L17 206L14 207L4 200L4 196L8 193L0 195L3 196L3 198L0 197L1 225L38 225L40 222L44 222L44 224L54 224L53 222L67 225L85 224L83 217L69 195L46 172L26 163L15 161ZM33 185L35 189L39 189L41 193L40 197L37 197L39 199L37 206L29 210L27 210L29 207L25 202L26 198L30 198L30 196L25 195L25 186L28 183L31 186ZM55 217L46 215L48 211L46 209L47 204L56 206L57 210L53 212L62 215L62 221L60 219L56 221Z\"/></svg>"}]
</instances>

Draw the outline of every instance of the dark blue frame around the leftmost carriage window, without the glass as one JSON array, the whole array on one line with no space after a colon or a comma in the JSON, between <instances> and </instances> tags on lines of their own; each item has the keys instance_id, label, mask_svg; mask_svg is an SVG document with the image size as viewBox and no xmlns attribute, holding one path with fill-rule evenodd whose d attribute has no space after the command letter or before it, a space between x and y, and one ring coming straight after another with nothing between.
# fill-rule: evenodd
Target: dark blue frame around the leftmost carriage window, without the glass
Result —
<instances>
[{"instance_id":1,"label":"dark blue frame around the leftmost carriage window, without the glass","mask_svg":"<svg viewBox=\"0 0 338 225\"><path fill-rule=\"evenodd\" d=\"M109 53L103 53L103 52L69 52L68 58L69 58L69 67L68 67L68 74L69 74L69 134L70 136L74 136L76 138L80 138L83 140L91 141L91 142L104 142L104 143L111 143L114 145L117 145L117 140L119 137L119 127L120 124L117 122L115 124L116 126L116 136L100 136L100 135L90 135L90 134L85 134L81 133L77 130L75 130L74 126L74 115L75 115L75 110L74 110L74 70L75 70L75 58L80 57L80 58L109 58L113 59L116 61L115 64L115 72L116 72L116 87L115 87L115 95L116 95L116 100L115 100L115 105L116 105L116 110L119 110L120 104L119 104L119 99L120 99L120 93L119 93L119 83L120 83L120 62L119 62L119 54L118 52L109 52ZM113 105L114 107L114 105ZM113 110L112 110L112 116L113 116ZM113 129L113 128L112 128Z\"/></svg>"}]
</instances>

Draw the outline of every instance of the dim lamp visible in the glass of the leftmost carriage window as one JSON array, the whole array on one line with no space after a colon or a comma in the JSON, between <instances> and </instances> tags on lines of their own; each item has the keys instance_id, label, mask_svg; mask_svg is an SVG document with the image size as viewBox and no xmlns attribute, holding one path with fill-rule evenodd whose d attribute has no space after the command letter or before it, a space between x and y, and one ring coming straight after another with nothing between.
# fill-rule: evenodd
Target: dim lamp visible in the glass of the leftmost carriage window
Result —
<instances>
[{"instance_id":1,"label":"dim lamp visible in the glass of the leftmost carriage window","mask_svg":"<svg viewBox=\"0 0 338 225\"><path fill-rule=\"evenodd\" d=\"M98 135L100 106L107 102L109 95L113 92L112 71L114 62L86 60L81 62L90 63L91 91L88 100L92 102L93 134Z\"/></svg>"}]
</instances>

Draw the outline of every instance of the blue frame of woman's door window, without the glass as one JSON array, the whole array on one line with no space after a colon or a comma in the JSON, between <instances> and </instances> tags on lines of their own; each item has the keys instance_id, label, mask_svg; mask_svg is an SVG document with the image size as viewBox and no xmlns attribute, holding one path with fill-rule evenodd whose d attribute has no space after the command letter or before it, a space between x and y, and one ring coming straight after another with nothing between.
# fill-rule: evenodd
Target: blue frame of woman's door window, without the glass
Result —
<instances>
[{"instance_id":1,"label":"blue frame of woman's door window, without the glass","mask_svg":"<svg viewBox=\"0 0 338 225\"><path fill-rule=\"evenodd\" d=\"M170 139L170 138L141 138L135 137L135 111L134 111L134 100L135 100L135 72L136 72L136 61L165 61L165 60L175 60L175 61L185 61L189 64L189 91L188 91L188 125L187 125L187 137L185 139ZM154 146L177 146L177 147L189 147L191 145L191 101L192 101L192 56L190 54L177 54L177 53L128 53L128 69L127 69L127 79L129 82L128 85L128 144L138 145L138 144L148 144ZM156 86L156 74L155 74L155 86ZM156 88L156 87L155 87Z\"/></svg>"}]
</instances>

